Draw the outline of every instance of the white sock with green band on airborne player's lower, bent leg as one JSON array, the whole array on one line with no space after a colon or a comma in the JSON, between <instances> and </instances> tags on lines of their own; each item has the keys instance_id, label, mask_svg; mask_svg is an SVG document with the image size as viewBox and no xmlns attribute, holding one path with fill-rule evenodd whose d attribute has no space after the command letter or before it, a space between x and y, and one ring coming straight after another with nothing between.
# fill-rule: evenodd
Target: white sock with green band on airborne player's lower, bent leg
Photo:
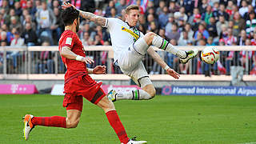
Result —
<instances>
[{"instance_id":1,"label":"white sock with green band on airborne player's lower, bent leg","mask_svg":"<svg viewBox=\"0 0 256 144\"><path fill-rule=\"evenodd\" d=\"M151 96L145 90L130 90L124 93L116 94L116 100L121 99L132 99L132 100L141 100L141 99L150 99Z\"/></svg>"}]
</instances>

